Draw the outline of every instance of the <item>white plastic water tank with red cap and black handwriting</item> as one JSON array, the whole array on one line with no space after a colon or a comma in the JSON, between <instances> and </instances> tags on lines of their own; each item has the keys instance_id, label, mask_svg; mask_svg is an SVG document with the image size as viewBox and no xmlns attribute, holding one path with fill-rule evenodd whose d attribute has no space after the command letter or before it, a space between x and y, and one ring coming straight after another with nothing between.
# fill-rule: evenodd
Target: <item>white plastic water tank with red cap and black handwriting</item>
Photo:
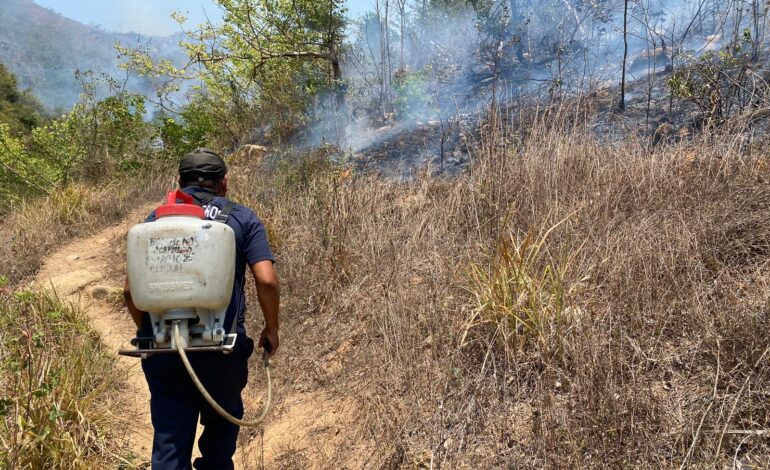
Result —
<instances>
[{"instance_id":1,"label":"white plastic water tank with red cap and black handwriting","mask_svg":"<svg viewBox=\"0 0 770 470\"><path fill-rule=\"evenodd\" d=\"M176 200L181 199L182 204ZM157 220L128 232L131 297L150 313L175 309L226 309L235 276L235 233L205 220L182 191L168 195Z\"/></svg>"}]
</instances>

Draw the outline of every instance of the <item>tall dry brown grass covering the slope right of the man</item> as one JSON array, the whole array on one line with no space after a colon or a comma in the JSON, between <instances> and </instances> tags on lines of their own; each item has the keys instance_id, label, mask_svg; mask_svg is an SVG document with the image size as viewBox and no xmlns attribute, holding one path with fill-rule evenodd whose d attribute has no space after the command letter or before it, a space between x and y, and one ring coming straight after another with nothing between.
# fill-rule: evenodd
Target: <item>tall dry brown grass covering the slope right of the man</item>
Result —
<instances>
[{"instance_id":1,"label":"tall dry brown grass covering the slope right of the man","mask_svg":"<svg viewBox=\"0 0 770 470\"><path fill-rule=\"evenodd\" d=\"M355 397L385 468L770 464L767 153L514 121L456 179L236 169L278 252L283 385Z\"/></svg>"}]
</instances>

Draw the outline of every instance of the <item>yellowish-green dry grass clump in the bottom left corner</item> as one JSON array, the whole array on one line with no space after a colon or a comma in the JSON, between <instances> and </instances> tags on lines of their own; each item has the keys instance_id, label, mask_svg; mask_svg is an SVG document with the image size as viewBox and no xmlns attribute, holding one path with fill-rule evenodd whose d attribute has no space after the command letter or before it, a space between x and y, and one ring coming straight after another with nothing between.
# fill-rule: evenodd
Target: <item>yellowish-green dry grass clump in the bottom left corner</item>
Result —
<instances>
[{"instance_id":1,"label":"yellowish-green dry grass clump in the bottom left corner","mask_svg":"<svg viewBox=\"0 0 770 470\"><path fill-rule=\"evenodd\" d=\"M0 292L0 467L117 468L114 358L50 294Z\"/></svg>"}]
</instances>

